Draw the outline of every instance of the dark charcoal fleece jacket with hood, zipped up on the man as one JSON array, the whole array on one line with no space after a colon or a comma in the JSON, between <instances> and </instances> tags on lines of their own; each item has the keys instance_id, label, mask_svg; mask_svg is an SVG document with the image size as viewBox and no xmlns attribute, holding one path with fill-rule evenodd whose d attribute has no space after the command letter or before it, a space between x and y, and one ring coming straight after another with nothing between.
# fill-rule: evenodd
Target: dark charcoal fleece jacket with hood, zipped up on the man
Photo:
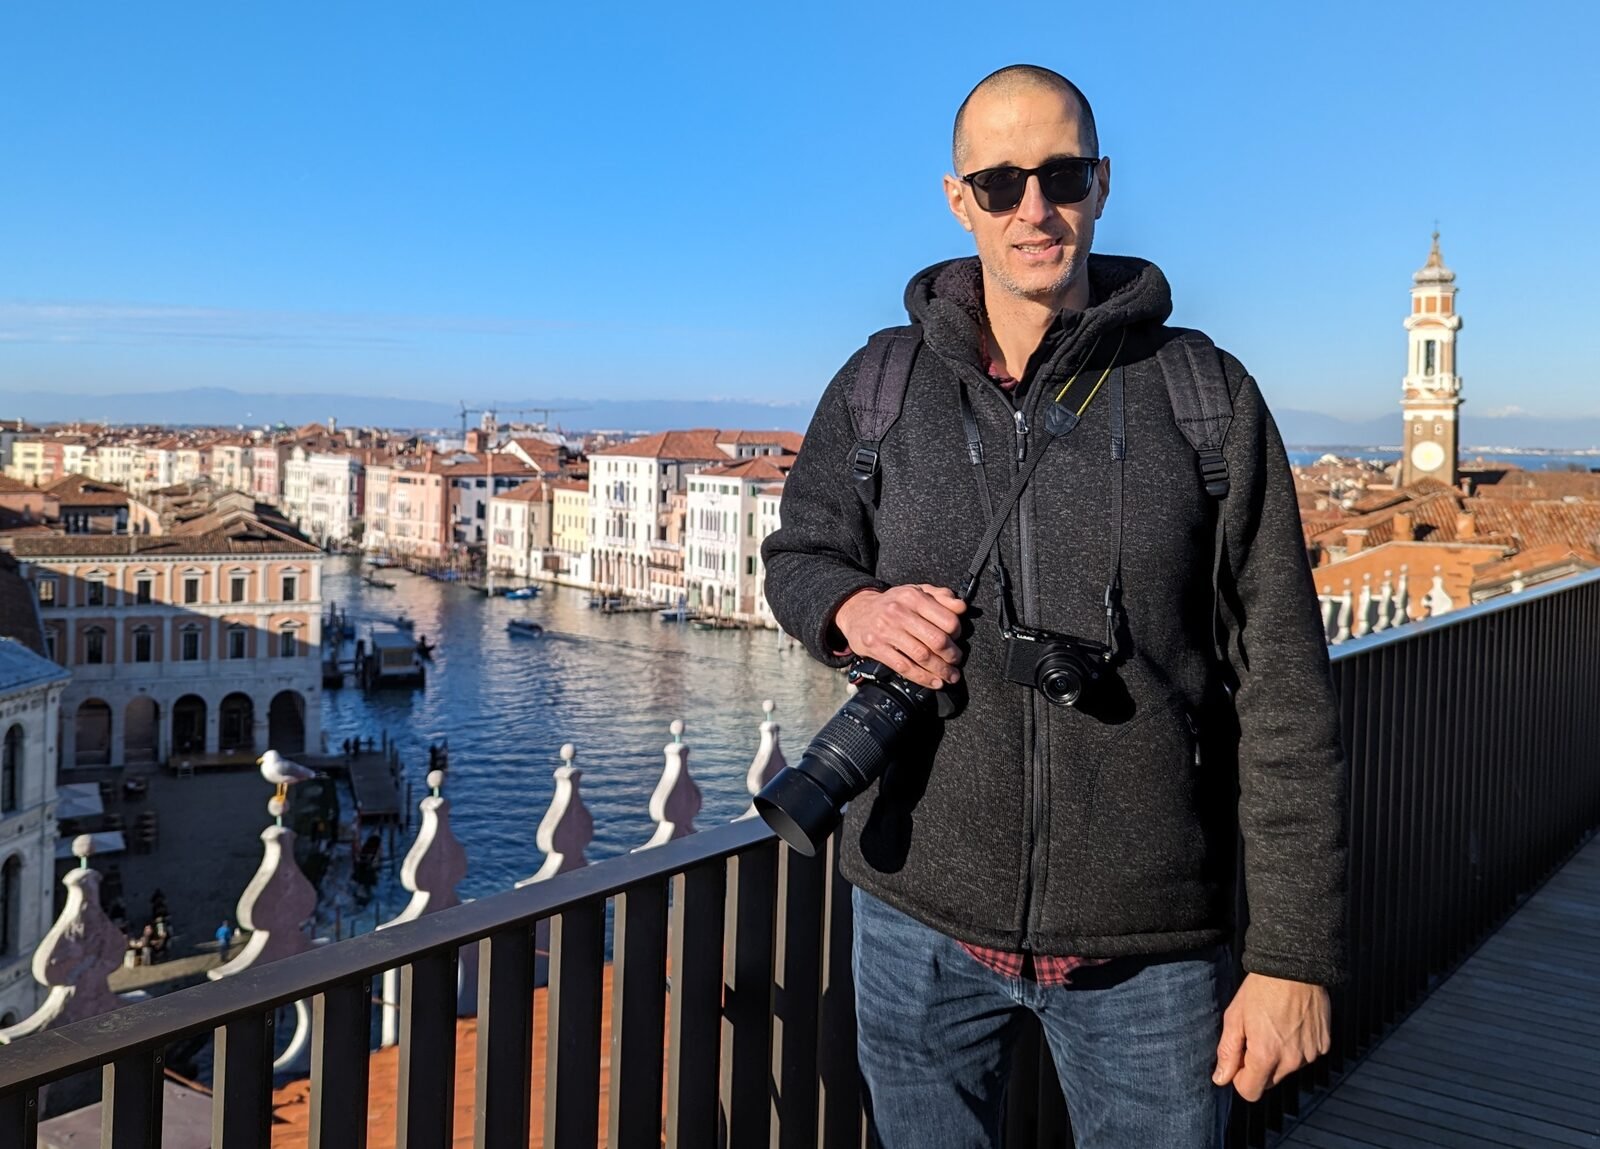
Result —
<instances>
[{"instance_id":1,"label":"dark charcoal fleece jacket with hood, zipped up on the man","mask_svg":"<svg viewBox=\"0 0 1600 1149\"><path fill-rule=\"evenodd\" d=\"M926 717L848 810L842 866L858 887L960 941L1117 957L1222 941L1243 843L1250 971L1334 984L1346 971L1346 771L1293 477L1261 392L1222 357L1222 624L1213 655L1213 501L1173 421L1155 350L1166 278L1091 256L1093 304L1066 312L1013 398L982 371L976 259L906 291L925 346L882 445L875 528L856 494L850 389L829 384L765 542L766 599L813 656L838 666L838 605L861 587L958 586L984 533L958 408L965 379L995 499L1045 443L1054 397L1096 344L1125 334L1122 653L1107 695L1050 706L1003 675L986 571L963 639L965 707ZM1083 381L1077 384L1082 387ZM1077 390L1075 394L1083 394ZM1046 400L1048 402L1048 400ZM1000 549L1021 623L1099 640L1112 554L1109 403L1096 398L1034 474ZM1021 413L1021 418L1018 418ZM1232 690L1224 685L1234 679Z\"/></svg>"}]
</instances>

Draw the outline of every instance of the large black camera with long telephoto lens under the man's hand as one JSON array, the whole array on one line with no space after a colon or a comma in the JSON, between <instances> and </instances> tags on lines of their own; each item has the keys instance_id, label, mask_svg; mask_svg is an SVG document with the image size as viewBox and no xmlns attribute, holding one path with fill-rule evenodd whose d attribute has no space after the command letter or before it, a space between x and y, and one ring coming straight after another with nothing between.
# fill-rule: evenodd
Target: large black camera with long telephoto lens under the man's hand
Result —
<instances>
[{"instance_id":1,"label":"large black camera with long telephoto lens under the man's hand","mask_svg":"<svg viewBox=\"0 0 1600 1149\"><path fill-rule=\"evenodd\" d=\"M899 677L882 663L861 659L848 674L856 696L838 707L797 763L755 795L762 819L806 858L827 842L845 803L888 770L914 719L939 711L938 691Z\"/></svg>"}]
</instances>

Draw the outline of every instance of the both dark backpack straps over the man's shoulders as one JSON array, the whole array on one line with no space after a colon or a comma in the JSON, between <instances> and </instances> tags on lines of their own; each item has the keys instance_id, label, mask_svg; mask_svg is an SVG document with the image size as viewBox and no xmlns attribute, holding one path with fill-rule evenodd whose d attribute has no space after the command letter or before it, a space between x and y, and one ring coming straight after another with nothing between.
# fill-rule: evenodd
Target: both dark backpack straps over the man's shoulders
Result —
<instances>
[{"instance_id":1,"label":"both dark backpack straps over the man's shoulders","mask_svg":"<svg viewBox=\"0 0 1600 1149\"><path fill-rule=\"evenodd\" d=\"M912 366L922 347L922 325L891 326L867 339L867 349L856 368L850 389L850 422L856 432L850 470L856 493L866 507L867 522L875 523L880 470L878 448L899 419L910 386ZM1173 419L1195 451L1200 485L1216 509L1211 550L1211 648L1218 663L1226 663L1221 637L1221 571L1222 571L1222 499L1227 498L1227 461L1222 440L1234 422L1234 400L1227 394L1222 355L1200 331L1178 328L1157 352L1155 363L1166 381L1166 398Z\"/></svg>"}]
</instances>

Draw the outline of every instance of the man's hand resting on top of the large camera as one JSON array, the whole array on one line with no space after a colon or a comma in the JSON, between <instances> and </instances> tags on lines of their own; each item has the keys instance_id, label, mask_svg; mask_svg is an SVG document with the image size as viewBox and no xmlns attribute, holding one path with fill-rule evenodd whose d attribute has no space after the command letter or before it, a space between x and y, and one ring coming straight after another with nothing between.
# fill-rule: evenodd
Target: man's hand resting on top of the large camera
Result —
<instances>
[{"instance_id":1,"label":"man's hand resting on top of the large camera","mask_svg":"<svg viewBox=\"0 0 1600 1149\"><path fill-rule=\"evenodd\" d=\"M939 690L962 677L962 632L966 603L949 587L922 583L888 591L867 587L845 599L834 626L850 651L872 658L904 679Z\"/></svg>"}]
</instances>

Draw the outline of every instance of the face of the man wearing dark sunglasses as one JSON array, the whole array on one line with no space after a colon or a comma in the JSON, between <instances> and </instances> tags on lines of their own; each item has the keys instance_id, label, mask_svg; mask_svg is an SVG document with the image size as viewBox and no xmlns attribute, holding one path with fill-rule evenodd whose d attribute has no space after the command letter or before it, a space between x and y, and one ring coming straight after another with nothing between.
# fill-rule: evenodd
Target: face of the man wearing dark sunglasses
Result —
<instances>
[{"instance_id":1,"label":"face of the man wearing dark sunglasses","mask_svg":"<svg viewBox=\"0 0 1600 1149\"><path fill-rule=\"evenodd\" d=\"M984 211L960 176L998 166L1037 168L1090 152L1078 134L1077 104L1046 88L979 94L966 106L963 126L962 171L944 178L944 194L978 242L986 280L1018 298L1062 306L1088 261L1094 221L1110 192L1110 162L1101 162L1094 186L1078 203L1051 203L1032 176L1014 208Z\"/></svg>"}]
</instances>

